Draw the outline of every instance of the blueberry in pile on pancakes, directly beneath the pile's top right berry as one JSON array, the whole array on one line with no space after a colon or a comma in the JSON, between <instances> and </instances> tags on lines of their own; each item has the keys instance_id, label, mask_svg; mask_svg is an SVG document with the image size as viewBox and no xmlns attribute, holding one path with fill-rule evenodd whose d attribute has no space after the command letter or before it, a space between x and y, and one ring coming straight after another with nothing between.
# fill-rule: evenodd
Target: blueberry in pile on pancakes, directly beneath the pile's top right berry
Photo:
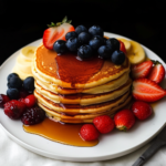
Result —
<instances>
[{"instance_id":1,"label":"blueberry in pile on pancakes, directly beneath the pile's top right berry","mask_svg":"<svg viewBox=\"0 0 166 166\"><path fill-rule=\"evenodd\" d=\"M97 49L103 44L103 41L100 37L94 37L92 40L90 40L89 45L94 50L97 51Z\"/></svg>"}]
</instances>

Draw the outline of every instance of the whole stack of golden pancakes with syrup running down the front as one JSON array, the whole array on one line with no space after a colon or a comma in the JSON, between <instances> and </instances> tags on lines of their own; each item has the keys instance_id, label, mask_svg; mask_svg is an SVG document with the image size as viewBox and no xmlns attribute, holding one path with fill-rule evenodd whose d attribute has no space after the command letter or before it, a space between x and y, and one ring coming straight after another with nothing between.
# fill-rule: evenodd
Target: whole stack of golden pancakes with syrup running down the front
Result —
<instances>
[{"instance_id":1,"label":"whole stack of golden pancakes with syrup running down the front","mask_svg":"<svg viewBox=\"0 0 166 166\"><path fill-rule=\"evenodd\" d=\"M65 62L62 68L59 64L61 61ZM92 123L98 115L113 116L116 111L129 103L132 80L128 76L127 58L122 65L97 60L101 66L90 75L86 75L90 70L86 63L93 60L83 62L85 63L83 70L87 70L85 72L80 71L81 68L77 69L82 62L76 61L77 65L73 64L70 71L68 69L71 63L70 56L68 59L68 55L58 55L44 45L37 49L32 65L35 79L34 95L38 105L45 111L48 117L63 123ZM65 69L66 71L63 71ZM65 74L60 73L60 70ZM79 77L73 75L66 79L68 74L72 75L74 71L80 72ZM82 74L89 79L83 81Z\"/></svg>"}]
</instances>

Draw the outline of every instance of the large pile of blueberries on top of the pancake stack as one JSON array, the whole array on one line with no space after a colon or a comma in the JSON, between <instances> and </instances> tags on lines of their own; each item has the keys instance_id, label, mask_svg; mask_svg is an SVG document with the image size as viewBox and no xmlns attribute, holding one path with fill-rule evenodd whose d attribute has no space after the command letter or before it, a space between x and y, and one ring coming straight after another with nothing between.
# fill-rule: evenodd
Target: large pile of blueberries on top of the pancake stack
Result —
<instances>
[{"instance_id":1,"label":"large pile of blueberries on top of the pancake stack","mask_svg":"<svg viewBox=\"0 0 166 166\"><path fill-rule=\"evenodd\" d=\"M53 50L59 55L71 51L77 52L82 60L97 54L115 64L122 64L125 61L125 54L120 50L118 40L104 38L104 32L98 25L93 25L89 30L84 25L79 25L75 31L68 32L65 39L66 41L58 40L53 44Z\"/></svg>"}]
</instances>

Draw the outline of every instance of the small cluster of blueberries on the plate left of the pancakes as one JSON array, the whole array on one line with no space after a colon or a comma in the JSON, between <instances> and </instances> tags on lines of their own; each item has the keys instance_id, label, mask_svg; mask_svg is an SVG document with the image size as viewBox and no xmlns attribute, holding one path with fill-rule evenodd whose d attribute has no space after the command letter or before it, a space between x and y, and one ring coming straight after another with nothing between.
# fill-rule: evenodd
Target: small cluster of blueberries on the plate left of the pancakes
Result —
<instances>
[{"instance_id":1,"label":"small cluster of blueberries on the plate left of the pancakes","mask_svg":"<svg viewBox=\"0 0 166 166\"><path fill-rule=\"evenodd\" d=\"M18 100L23 93L33 93L34 91L34 79L32 76L27 77L22 81L18 74L11 73L8 75L8 90L7 95L10 100Z\"/></svg>"}]
</instances>

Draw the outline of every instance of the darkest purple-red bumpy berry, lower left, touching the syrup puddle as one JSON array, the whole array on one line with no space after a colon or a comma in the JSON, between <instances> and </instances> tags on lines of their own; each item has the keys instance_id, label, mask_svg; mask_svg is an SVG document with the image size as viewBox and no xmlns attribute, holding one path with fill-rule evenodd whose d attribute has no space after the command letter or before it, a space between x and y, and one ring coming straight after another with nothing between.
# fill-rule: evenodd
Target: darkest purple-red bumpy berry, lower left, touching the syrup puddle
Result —
<instances>
[{"instance_id":1,"label":"darkest purple-red bumpy berry, lower left, touching the syrup puddle","mask_svg":"<svg viewBox=\"0 0 166 166\"><path fill-rule=\"evenodd\" d=\"M24 125L33 125L42 122L45 117L45 112L39 107L27 108L27 111L22 115L22 123Z\"/></svg>"}]
</instances>

